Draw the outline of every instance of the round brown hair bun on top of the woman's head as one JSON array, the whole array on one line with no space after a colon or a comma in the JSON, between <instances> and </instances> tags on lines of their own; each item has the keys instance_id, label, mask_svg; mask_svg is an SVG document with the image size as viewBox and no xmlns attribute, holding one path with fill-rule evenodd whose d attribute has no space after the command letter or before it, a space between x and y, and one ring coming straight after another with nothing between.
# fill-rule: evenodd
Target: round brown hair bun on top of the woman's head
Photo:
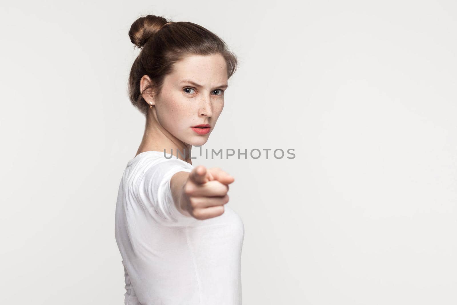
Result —
<instances>
[{"instance_id":1,"label":"round brown hair bun on top of the woman's head","mask_svg":"<svg viewBox=\"0 0 457 305\"><path fill-rule=\"evenodd\" d=\"M167 20L162 16L148 15L139 17L132 23L128 36L130 41L138 48L142 48L148 39L167 23Z\"/></svg>"}]
</instances>

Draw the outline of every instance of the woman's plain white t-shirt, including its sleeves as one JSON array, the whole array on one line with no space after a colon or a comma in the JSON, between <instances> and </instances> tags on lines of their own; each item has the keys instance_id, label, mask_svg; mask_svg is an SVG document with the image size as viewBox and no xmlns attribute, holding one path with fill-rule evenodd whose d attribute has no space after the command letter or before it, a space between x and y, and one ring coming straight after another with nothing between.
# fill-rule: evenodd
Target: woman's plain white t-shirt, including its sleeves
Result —
<instances>
[{"instance_id":1,"label":"woman's plain white t-shirt, including its sleeves","mask_svg":"<svg viewBox=\"0 0 457 305\"><path fill-rule=\"evenodd\" d=\"M243 221L229 204L198 220L173 203L170 179L191 164L162 151L128 161L119 185L115 235L126 305L241 305Z\"/></svg>"}]
</instances>

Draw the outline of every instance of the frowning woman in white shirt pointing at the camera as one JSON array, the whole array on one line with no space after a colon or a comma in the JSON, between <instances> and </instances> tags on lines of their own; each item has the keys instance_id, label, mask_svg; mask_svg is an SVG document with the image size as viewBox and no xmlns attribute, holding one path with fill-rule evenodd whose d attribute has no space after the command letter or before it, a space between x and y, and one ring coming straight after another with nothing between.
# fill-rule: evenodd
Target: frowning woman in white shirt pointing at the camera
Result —
<instances>
[{"instance_id":1,"label":"frowning woman in white shirt pointing at the camera","mask_svg":"<svg viewBox=\"0 0 457 305\"><path fill-rule=\"evenodd\" d=\"M225 205L234 178L190 154L216 125L236 56L207 29L160 16L138 18L129 36L142 48L130 100L146 128L117 196L125 304L240 305L244 225Z\"/></svg>"}]
</instances>

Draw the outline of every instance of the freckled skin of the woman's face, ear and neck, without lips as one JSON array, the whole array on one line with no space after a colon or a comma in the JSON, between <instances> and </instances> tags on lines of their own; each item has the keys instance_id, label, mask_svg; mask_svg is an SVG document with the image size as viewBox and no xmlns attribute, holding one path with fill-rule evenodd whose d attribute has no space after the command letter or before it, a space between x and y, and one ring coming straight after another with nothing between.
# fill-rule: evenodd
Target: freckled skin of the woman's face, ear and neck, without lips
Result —
<instances>
[{"instance_id":1,"label":"freckled skin of the woman's face, ear and neck, without lips","mask_svg":"<svg viewBox=\"0 0 457 305\"><path fill-rule=\"evenodd\" d=\"M195 86L182 80L191 80ZM227 66L220 54L189 55L174 64L174 72L166 75L159 96L143 93L148 105L146 128L137 155L143 151L157 150L173 155L176 150L191 150L207 142L224 107L224 87L227 85ZM144 75L140 81L141 90L150 81ZM200 135L191 126L210 124L211 131ZM179 156L182 158L181 156ZM183 159L184 160L184 159ZM189 155L185 161L191 163Z\"/></svg>"}]
</instances>

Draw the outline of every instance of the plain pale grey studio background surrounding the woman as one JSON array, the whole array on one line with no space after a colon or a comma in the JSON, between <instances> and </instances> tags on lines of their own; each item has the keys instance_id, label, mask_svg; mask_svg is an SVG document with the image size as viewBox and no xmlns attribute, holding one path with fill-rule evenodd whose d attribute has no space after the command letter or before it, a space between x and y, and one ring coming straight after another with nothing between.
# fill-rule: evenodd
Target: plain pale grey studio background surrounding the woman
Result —
<instances>
[{"instance_id":1,"label":"plain pale grey studio background surrounding the woman","mask_svg":"<svg viewBox=\"0 0 457 305\"><path fill-rule=\"evenodd\" d=\"M456 304L455 1L3 3L3 304L123 304L117 188L143 135L139 16L191 21L240 67L199 157L236 181L243 304Z\"/></svg>"}]
</instances>

